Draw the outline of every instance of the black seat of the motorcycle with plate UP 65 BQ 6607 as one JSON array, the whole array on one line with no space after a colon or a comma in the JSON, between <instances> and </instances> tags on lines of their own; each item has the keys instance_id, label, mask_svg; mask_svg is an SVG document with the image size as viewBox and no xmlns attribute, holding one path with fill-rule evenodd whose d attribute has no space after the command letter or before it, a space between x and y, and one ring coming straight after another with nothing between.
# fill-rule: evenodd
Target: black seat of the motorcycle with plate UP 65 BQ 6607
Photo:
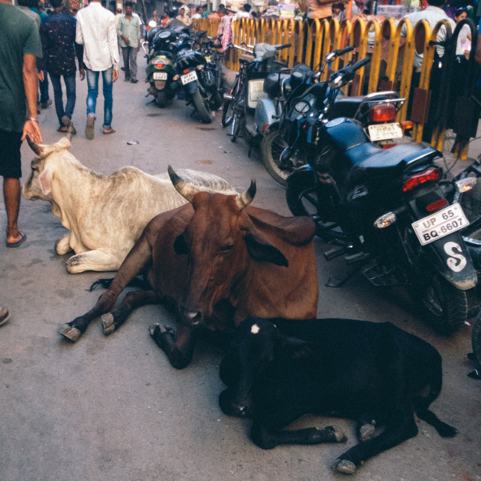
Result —
<instances>
[{"instance_id":1,"label":"black seat of the motorcycle with plate UP 65 BQ 6607","mask_svg":"<svg viewBox=\"0 0 481 481\"><path fill-rule=\"evenodd\" d=\"M356 185L367 179L397 173L399 167L404 167L409 157L422 150L424 147L415 142L396 145L392 149L380 149L369 142L357 145L346 152L353 163L349 184Z\"/></svg>"}]
</instances>

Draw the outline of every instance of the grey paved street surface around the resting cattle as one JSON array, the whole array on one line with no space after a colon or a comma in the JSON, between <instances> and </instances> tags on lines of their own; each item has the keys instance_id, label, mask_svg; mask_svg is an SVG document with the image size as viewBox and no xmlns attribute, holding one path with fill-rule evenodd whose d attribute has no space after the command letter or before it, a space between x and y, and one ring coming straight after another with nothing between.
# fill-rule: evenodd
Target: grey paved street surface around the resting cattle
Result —
<instances>
[{"instance_id":1,"label":"grey paved street surface around the resting cattle","mask_svg":"<svg viewBox=\"0 0 481 481\"><path fill-rule=\"evenodd\" d=\"M219 112L206 126L190 117L192 108L184 101L176 100L166 109L146 105L152 97L144 97L145 60L140 54L138 61L138 84L123 82L122 72L114 84L113 135L102 135L100 93L95 138L86 139L87 83L77 77L73 121L78 133L70 152L102 174L126 165L157 174L170 164L174 169L215 173L239 191L255 177L253 205L290 215L284 187L267 174L256 152L247 158L242 139L230 142ZM50 91L53 99L51 87ZM44 143L62 137L56 132L53 105L42 110L39 124ZM129 140L139 144L127 145ZM22 183L32 158L24 142ZM6 225L3 202L0 225ZM291 425L336 424L348 435L345 444L258 448L249 437L250 422L225 416L218 407L218 395L225 388L218 377L220 349L198 344L190 366L178 371L152 341L150 324L175 325L162 306L135 310L108 337L102 334L100 319L76 343L60 336L59 327L87 312L101 294L100 289L86 291L90 284L113 274L67 273L65 261L71 254L54 252L55 240L67 230L49 203L22 199L19 228L28 236L20 248L6 249L3 240L0 244L0 304L7 304L11 312L10 321L0 328L0 480L347 479L330 467L357 443L353 421L308 416ZM329 276L342 269L343 260L328 264L323 252L329 247L317 238L315 242L318 317L391 321L433 344L443 356L444 377L443 391L431 409L459 430L455 438L443 439L419 421L415 438L368 460L354 479L481 479L481 381L466 376L475 367L466 356L471 352L471 328L465 325L450 338L438 336L416 317L404 289L375 288L362 275L340 289L325 287Z\"/></svg>"}]
</instances>

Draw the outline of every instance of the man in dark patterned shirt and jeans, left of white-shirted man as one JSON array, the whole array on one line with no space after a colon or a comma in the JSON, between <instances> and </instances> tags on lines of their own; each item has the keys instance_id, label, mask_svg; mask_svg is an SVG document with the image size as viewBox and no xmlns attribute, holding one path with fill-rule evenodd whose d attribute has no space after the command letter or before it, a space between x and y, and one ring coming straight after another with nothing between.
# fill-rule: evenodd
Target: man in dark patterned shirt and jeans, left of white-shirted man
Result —
<instances>
[{"instance_id":1,"label":"man in dark patterned shirt and jeans, left of white-shirted man","mask_svg":"<svg viewBox=\"0 0 481 481\"><path fill-rule=\"evenodd\" d=\"M42 22L40 26L40 40L45 70L49 73L53 86L55 99L55 110L59 119L60 127L58 132L66 132L67 127L72 123L72 114L75 108L75 51L78 59L78 66L82 68L84 56L83 45L75 42L76 24L74 17L61 13L63 0L50 0L55 13ZM75 44L75 51L74 51ZM63 109L63 93L60 77L63 76L67 94L67 103ZM76 130L72 126L72 133Z\"/></svg>"}]
</instances>

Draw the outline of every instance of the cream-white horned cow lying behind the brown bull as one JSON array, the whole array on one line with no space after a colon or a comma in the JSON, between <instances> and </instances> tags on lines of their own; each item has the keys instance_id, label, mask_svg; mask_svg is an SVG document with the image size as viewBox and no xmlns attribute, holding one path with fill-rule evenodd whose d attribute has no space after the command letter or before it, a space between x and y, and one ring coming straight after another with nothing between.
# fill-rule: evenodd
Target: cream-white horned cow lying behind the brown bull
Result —
<instances>
[{"instance_id":1,"label":"cream-white horned cow lying behind the brown bull","mask_svg":"<svg viewBox=\"0 0 481 481\"><path fill-rule=\"evenodd\" d=\"M57 254L76 253L66 263L68 272L118 270L147 223L187 201L166 172L151 176L131 166L111 176L91 171L68 152L68 137L52 145L27 139L37 156L22 195L50 202L52 212L70 230L55 242ZM213 174L186 169L179 175L200 190L237 194Z\"/></svg>"}]
</instances>

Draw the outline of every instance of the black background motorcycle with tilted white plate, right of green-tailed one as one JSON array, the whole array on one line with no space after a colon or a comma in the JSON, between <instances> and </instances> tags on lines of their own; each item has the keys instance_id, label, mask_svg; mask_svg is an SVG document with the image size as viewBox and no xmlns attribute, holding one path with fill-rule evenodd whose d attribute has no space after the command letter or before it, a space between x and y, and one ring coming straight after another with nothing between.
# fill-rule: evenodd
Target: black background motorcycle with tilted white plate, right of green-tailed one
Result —
<instances>
[{"instance_id":1,"label":"black background motorcycle with tilted white plate, right of green-tailed one","mask_svg":"<svg viewBox=\"0 0 481 481\"><path fill-rule=\"evenodd\" d=\"M215 63L208 63L202 51L194 50L195 43L200 43L206 32L191 35L190 48L177 54L177 75L183 86L188 105L194 106L204 124L212 122L212 111L220 107L222 98L217 89L218 76Z\"/></svg>"}]
</instances>

